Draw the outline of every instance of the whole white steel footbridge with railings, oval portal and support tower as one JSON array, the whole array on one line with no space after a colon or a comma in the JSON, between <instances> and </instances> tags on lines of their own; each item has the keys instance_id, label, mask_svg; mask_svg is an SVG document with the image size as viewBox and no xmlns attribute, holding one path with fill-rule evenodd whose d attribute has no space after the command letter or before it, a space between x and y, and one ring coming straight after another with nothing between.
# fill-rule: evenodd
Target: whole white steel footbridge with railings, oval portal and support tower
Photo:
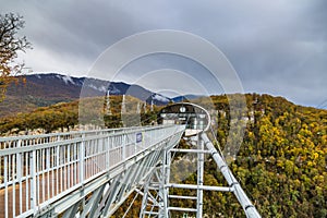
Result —
<instances>
[{"instance_id":1,"label":"whole white steel footbridge with railings, oval portal and support tower","mask_svg":"<svg viewBox=\"0 0 327 218\"><path fill-rule=\"evenodd\" d=\"M208 113L177 104L160 117L155 126L0 138L0 218L110 217L133 192L143 196L140 217L183 211L199 218L204 191L232 192L246 217L261 217L207 136ZM195 148L178 148L181 137ZM197 155L197 184L170 182L174 153ZM228 186L204 185L205 154ZM172 187L196 190L196 195L172 195ZM175 207L170 199L193 199L196 207Z\"/></svg>"}]
</instances>

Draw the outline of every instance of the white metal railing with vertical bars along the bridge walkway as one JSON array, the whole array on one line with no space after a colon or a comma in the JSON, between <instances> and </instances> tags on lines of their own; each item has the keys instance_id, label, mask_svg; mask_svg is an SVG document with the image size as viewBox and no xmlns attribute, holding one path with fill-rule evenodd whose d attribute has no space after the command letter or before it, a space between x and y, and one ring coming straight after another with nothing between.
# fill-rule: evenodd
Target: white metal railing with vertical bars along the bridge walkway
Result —
<instances>
[{"instance_id":1,"label":"white metal railing with vertical bars along the bridge walkway","mask_svg":"<svg viewBox=\"0 0 327 218\"><path fill-rule=\"evenodd\" d=\"M0 217L36 214L124 160L183 131L181 125L162 125L2 137Z\"/></svg>"}]
</instances>

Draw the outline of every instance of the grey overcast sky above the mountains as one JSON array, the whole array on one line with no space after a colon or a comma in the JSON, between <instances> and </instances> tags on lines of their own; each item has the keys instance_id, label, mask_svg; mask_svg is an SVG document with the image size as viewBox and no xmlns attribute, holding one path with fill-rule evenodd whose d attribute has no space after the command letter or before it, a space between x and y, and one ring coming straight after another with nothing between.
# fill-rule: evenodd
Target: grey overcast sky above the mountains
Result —
<instances>
[{"instance_id":1,"label":"grey overcast sky above the mountains","mask_svg":"<svg viewBox=\"0 0 327 218\"><path fill-rule=\"evenodd\" d=\"M17 12L26 21L21 34L27 36L34 49L20 58L34 72L88 75L98 57L122 38L145 31L175 29L197 35L219 48L245 93L268 93L306 106L318 106L327 99L325 0L0 3L1 13ZM146 70L142 68L145 65ZM129 65L125 77L137 81L137 71L164 73L160 69L205 75L205 70L192 61L158 55ZM152 89L162 83L153 76L150 80Z\"/></svg>"}]
</instances>

